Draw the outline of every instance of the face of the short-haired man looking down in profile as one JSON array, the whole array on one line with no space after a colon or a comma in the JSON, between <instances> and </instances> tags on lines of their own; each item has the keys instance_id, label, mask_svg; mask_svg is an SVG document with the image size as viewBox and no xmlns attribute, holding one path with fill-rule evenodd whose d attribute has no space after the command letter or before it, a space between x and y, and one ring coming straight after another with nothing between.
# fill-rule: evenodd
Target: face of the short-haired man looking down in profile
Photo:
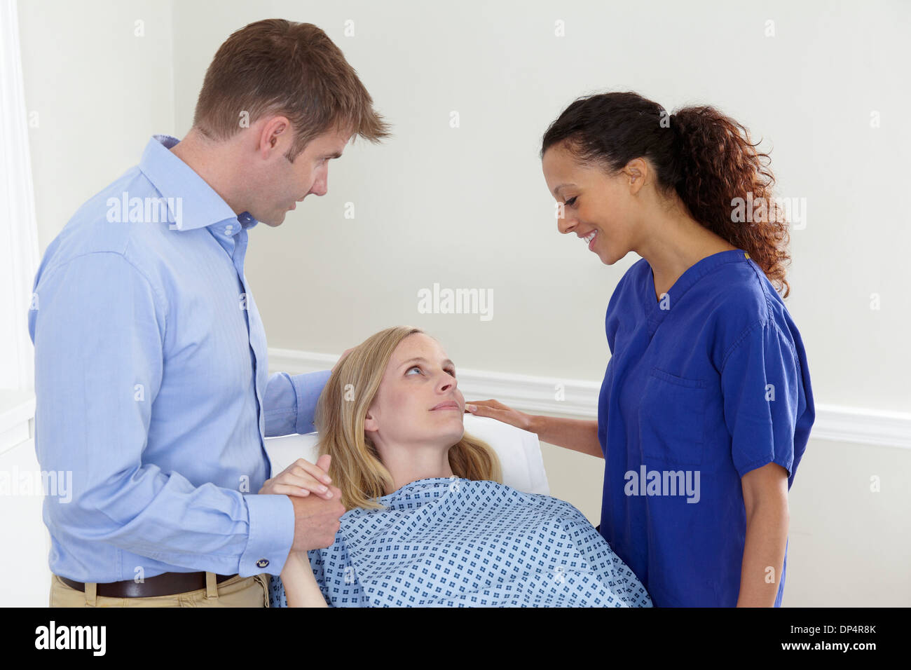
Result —
<instances>
[{"instance_id":1,"label":"face of the short-haired man looking down in profile","mask_svg":"<svg viewBox=\"0 0 911 670\"><path fill-rule=\"evenodd\" d=\"M282 137L283 136L283 137ZM291 149L292 132L285 130L261 164L257 187L250 193L251 216L270 226L284 222L285 214L311 193L324 195L329 188L329 161L340 158L352 133L347 130L323 133L307 145L291 162L286 154Z\"/></svg>"}]
</instances>

